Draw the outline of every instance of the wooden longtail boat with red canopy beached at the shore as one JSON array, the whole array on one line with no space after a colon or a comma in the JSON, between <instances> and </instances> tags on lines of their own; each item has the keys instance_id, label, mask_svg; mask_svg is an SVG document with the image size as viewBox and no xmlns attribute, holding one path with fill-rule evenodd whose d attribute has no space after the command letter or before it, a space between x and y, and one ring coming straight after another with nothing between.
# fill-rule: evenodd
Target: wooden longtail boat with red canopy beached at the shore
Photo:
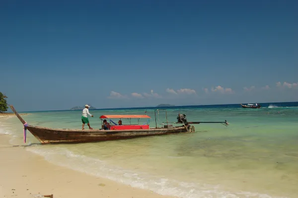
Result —
<instances>
[{"instance_id":1,"label":"wooden longtail boat with red canopy beached at the shore","mask_svg":"<svg viewBox=\"0 0 298 198\"><path fill-rule=\"evenodd\" d=\"M24 125L24 142L26 142L26 130L31 132L31 134L36 137L41 144L58 144L58 143L84 143L84 142L98 142L98 141L107 141L107 140L119 140L119 139L129 139L135 137L145 137L152 135L165 135L165 134L174 134L174 133L192 133L195 132L195 127L190 125L185 115L180 116L180 113L177 117L180 126L173 126L169 124L163 125L163 127L157 127L156 123L156 110L165 110L165 109L156 109L155 112L155 128L150 128L148 121L144 124L140 124L140 118L150 119L151 117L148 115L101 115L99 118L102 119L110 119L110 129L54 129L54 128L46 128L40 126L32 126L29 125L14 109L12 105L10 105L11 110L15 113L18 119ZM127 124L127 125L117 125L115 122L111 120L111 118L136 118L138 119L138 124ZM167 119L167 118L166 118ZM185 122L186 121L186 122ZM113 124L112 124L113 123ZM204 122L193 122L193 123L204 123ZM205 122L211 123L211 122ZM212 122L212 123L223 123L224 125L228 125L226 122Z\"/></svg>"}]
</instances>

